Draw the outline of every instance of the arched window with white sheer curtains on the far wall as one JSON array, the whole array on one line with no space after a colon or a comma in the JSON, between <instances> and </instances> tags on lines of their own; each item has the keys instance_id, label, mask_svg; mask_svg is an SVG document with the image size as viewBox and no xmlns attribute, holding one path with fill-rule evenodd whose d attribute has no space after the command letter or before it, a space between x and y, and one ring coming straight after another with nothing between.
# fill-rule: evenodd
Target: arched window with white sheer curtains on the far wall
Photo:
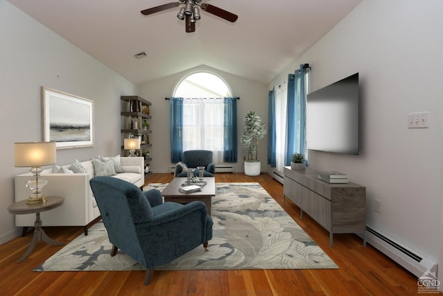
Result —
<instances>
[{"instance_id":1,"label":"arched window with white sheer curtains on the far wall","mask_svg":"<svg viewBox=\"0 0 443 296\"><path fill-rule=\"evenodd\" d=\"M192 73L177 85L174 97L183 98L183 151L213 151L213 162L224 162L224 99L226 82L213 73Z\"/></svg>"}]
</instances>

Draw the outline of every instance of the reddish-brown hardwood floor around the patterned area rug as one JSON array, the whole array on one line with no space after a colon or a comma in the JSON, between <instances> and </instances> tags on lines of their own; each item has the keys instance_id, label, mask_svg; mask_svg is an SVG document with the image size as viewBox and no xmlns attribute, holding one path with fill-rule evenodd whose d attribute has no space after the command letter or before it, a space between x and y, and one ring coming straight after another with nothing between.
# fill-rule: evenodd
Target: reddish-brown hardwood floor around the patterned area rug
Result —
<instances>
[{"instance_id":1,"label":"reddish-brown hardwood floor around the patterned area rug","mask_svg":"<svg viewBox=\"0 0 443 296\"><path fill-rule=\"evenodd\" d=\"M152 174L147 182L170 182L172 174ZM210 270L155 271L149 286L144 271L33 272L62 246L37 243L17 263L32 238L0 245L0 295L416 295L417 279L355 234L329 234L287 199L283 186L263 174L217 173L216 182L259 182L287 213L340 267L338 270ZM69 243L82 227L45 227L48 236Z\"/></svg>"}]
</instances>

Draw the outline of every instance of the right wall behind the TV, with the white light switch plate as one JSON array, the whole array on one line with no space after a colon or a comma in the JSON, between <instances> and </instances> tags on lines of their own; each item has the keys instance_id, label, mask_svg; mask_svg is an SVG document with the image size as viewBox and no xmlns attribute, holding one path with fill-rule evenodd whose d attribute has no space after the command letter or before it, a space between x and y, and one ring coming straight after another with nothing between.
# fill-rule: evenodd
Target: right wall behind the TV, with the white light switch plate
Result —
<instances>
[{"instance_id":1,"label":"right wall behind the TV, with the white light switch plate","mask_svg":"<svg viewBox=\"0 0 443 296\"><path fill-rule=\"evenodd\" d=\"M442 12L440 0L365 0L271 84L305 62L311 91L360 73L360 155L310 151L311 168L366 186L368 225L434 261L442 233ZM422 111L431 112L430 128L408 130L407 114Z\"/></svg>"}]
</instances>

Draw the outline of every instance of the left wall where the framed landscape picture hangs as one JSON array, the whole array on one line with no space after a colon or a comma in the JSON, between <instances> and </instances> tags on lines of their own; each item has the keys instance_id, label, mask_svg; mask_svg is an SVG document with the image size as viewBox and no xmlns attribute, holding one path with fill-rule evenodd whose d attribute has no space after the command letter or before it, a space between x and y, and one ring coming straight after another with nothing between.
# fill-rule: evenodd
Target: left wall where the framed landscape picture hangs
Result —
<instances>
[{"instance_id":1,"label":"left wall where the framed landscape picture hangs","mask_svg":"<svg viewBox=\"0 0 443 296\"><path fill-rule=\"evenodd\" d=\"M96 145L57 150L57 163L69 164L120 153L120 95L136 86L42 26L5 0L0 0L0 243L19 234L6 209L14 201L14 145L42 140L40 87L94 101Z\"/></svg>"}]
</instances>

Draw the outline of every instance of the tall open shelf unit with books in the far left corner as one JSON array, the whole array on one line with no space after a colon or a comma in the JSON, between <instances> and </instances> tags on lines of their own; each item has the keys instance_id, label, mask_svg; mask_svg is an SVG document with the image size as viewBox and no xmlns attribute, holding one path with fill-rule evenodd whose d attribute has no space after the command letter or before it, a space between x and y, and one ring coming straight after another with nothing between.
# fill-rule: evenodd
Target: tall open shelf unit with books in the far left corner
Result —
<instances>
[{"instance_id":1,"label":"tall open shelf unit with books in the far left corner","mask_svg":"<svg viewBox=\"0 0 443 296\"><path fill-rule=\"evenodd\" d=\"M145 166L150 166L152 161L150 142L150 120L151 116L151 102L141 98L140 96L120 96L122 102L121 107L121 134L122 134L122 155L129 155L129 151L124 149L124 139L129 137L140 137L141 146L136 150L137 156L145 157ZM145 174L147 175L147 174Z\"/></svg>"}]
</instances>

